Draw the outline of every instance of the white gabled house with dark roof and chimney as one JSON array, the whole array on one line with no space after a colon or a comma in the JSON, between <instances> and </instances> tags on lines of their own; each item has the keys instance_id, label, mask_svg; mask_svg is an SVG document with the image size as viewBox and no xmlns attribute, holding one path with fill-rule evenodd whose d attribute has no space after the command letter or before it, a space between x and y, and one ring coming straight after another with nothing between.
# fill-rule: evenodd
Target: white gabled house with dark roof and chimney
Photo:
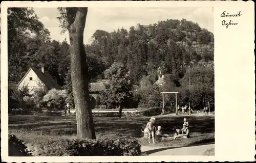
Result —
<instances>
[{"instance_id":1,"label":"white gabled house with dark roof and chimney","mask_svg":"<svg viewBox=\"0 0 256 163\"><path fill-rule=\"evenodd\" d=\"M59 86L56 80L44 70L44 67L42 67L41 70L30 68L24 77L20 80L17 87L28 87L30 91L35 89L44 89L49 91L53 88L62 90L62 87Z\"/></svg>"}]
</instances>

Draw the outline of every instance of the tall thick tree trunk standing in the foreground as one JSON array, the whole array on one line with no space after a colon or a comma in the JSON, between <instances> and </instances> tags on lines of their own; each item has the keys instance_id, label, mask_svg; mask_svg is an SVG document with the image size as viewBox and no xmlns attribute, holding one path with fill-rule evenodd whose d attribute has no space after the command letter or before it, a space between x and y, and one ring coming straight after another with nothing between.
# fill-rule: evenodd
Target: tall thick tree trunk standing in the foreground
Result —
<instances>
[{"instance_id":1,"label":"tall thick tree trunk standing in the foreground","mask_svg":"<svg viewBox=\"0 0 256 163\"><path fill-rule=\"evenodd\" d=\"M69 30L71 52L71 80L76 108L77 136L96 139L88 87L88 66L83 46L83 32L88 8L78 8Z\"/></svg>"}]
</instances>

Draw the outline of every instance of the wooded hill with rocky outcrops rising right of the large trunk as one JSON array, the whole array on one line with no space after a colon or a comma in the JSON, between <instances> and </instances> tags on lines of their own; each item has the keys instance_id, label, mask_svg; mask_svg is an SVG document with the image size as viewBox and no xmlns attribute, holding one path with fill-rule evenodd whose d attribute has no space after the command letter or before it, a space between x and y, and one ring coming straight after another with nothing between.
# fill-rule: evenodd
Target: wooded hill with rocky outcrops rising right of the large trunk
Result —
<instances>
[{"instance_id":1,"label":"wooded hill with rocky outcrops rising right of the large trunk","mask_svg":"<svg viewBox=\"0 0 256 163\"><path fill-rule=\"evenodd\" d=\"M164 66L164 73L184 75L183 66L214 60L214 35L185 19L131 26L130 31L97 30L86 51L109 67L115 61L130 71L133 83Z\"/></svg>"}]
</instances>

